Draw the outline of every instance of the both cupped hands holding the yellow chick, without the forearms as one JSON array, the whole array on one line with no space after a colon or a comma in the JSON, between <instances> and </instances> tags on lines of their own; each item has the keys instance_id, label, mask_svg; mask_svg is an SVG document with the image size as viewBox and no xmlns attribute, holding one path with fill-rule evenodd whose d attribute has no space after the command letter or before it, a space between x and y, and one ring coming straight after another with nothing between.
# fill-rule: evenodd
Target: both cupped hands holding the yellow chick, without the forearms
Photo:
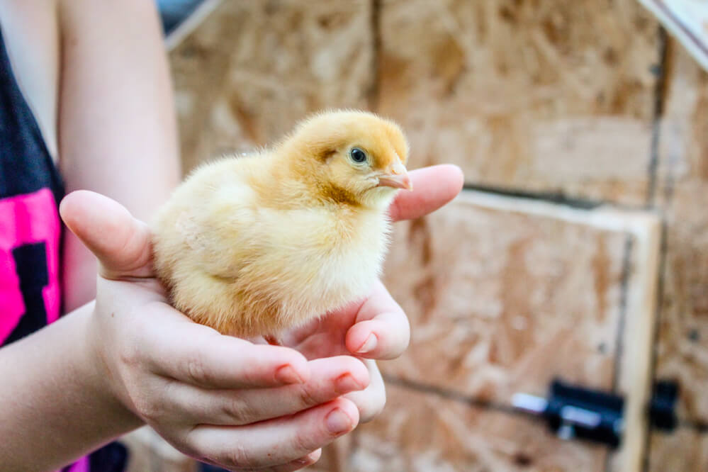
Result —
<instances>
[{"instance_id":1,"label":"both cupped hands holding the yellow chick, without the forearms","mask_svg":"<svg viewBox=\"0 0 708 472\"><path fill-rule=\"evenodd\" d=\"M461 188L453 166L411 178L415 191L396 198L393 220L430 213ZM231 470L294 471L356 427L359 412L369 420L383 408L373 359L400 355L409 328L381 283L366 300L283 339L296 349L252 344L167 304L152 271L150 232L118 203L78 191L60 212L99 259L87 340L103 390L136 425L145 422L177 449Z\"/></svg>"}]
</instances>

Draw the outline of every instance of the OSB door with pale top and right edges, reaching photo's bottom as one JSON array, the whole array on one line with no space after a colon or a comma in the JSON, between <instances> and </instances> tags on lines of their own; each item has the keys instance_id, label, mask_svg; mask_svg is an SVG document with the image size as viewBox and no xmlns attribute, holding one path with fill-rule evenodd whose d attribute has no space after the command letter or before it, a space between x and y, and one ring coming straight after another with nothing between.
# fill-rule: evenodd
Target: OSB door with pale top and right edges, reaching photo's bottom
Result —
<instances>
[{"instance_id":1,"label":"OSB door with pale top and right edges, reaching photo's bottom","mask_svg":"<svg viewBox=\"0 0 708 472\"><path fill-rule=\"evenodd\" d=\"M648 365L629 358L649 352L658 225L635 217L466 191L399 225L385 281L412 342L382 363L391 402L354 433L351 470L639 470L638 444L566 442L510 405L554 377L643 401ZM628 421L628 437L645 431Z\"/></svg>"}]
</instances>

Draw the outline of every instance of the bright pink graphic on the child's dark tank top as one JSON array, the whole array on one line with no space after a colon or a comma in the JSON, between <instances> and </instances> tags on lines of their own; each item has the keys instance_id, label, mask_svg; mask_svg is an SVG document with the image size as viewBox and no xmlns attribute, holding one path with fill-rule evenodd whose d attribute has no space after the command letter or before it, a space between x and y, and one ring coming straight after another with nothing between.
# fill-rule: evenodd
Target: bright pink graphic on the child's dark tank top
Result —
<instances>
[{"instance_id":1,"label":"bright pink graphic on the child's dark tank top","mask_svg":"<svg viewBox=\"0 0 708 472\"><path fill-rule=\"evenodd\" d=\"M16 247L45 243L49 283L42 296L47 324L59 318L59 238L59 215L50 189L0 199L0 344L26 311L12 255Z\"/></svg>"}]
</instances>

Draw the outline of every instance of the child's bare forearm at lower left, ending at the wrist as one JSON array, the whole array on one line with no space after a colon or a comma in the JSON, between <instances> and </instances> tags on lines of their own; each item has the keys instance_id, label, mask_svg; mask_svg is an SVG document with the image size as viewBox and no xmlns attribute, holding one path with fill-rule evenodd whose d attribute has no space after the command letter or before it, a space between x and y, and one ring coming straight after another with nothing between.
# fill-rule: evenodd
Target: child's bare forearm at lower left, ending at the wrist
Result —
<instances>
[{"instance_id":1,"label":"child's bare forearm at lower left, ending at the wrist","mask_svg":"<svg viewBox=\"0 0 708 472\"><path fill-rule=\"evenodd\" d=\"M66 465L142 422L113 397L88 335L93 303L0 349L0 469Z\"/></svg>"}]
</instances>

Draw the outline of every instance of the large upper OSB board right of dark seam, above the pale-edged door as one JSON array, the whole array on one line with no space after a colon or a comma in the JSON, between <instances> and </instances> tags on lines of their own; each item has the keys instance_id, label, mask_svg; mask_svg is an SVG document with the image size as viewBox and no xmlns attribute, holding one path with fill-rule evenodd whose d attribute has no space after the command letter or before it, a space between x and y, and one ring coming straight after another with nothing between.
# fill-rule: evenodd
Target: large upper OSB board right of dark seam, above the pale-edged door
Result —
<instances>
[{"instance_id":1,"label":"large upper OSB board right of dark seam, above the pale-edged door","mask_svg":"<svg viewBox=\"0 0 708 472\"><path fill-rule=\"evenodd\" d=\"M412 164L641 204L658 23L636 0L383 0L377 111Z\"/></svg>"}]
</instances>

